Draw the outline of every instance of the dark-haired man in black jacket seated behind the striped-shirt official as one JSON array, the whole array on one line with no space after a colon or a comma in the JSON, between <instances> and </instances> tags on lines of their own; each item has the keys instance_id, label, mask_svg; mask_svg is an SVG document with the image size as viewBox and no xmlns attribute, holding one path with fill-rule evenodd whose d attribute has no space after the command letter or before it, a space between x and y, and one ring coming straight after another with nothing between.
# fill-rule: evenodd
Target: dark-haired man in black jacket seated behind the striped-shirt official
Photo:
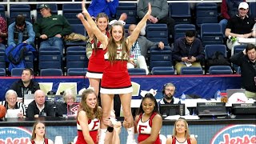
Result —
<instances>
[{"instance_id":1,"label":"dark-haired man in black jacket seated behind the striped-shirt official","mask_svg":"<svg viewBox=\"0 0 256 144\"><path fill-rule=\"evenodd\" d=\"M24 94L34 94L36 90L40 90L38 82L34 82L32 78L33 70L24 69L22 71L22 78L10 86L10 90L14 90L18 94L18 99L23 101Z\"/></svg>"}]
</instances>

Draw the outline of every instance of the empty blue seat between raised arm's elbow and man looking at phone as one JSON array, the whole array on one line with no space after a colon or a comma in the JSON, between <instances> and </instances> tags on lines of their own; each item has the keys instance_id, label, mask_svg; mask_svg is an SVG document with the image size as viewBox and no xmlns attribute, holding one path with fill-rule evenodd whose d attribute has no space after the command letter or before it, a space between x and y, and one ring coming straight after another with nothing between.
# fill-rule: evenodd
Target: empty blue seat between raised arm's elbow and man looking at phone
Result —
<instances>
[{"instance_id":1,"label":"empty blue seat between raised arm's elbow and man looking at phone","mask_svg":"<svg viewBox=\"0 0 256 144\"><path fill-rule=\"evenodd\" d=\"M168 29L166 24L147 24L146 38L151 42L163 42L168 45Z\"/></svg>"}]
</instances>

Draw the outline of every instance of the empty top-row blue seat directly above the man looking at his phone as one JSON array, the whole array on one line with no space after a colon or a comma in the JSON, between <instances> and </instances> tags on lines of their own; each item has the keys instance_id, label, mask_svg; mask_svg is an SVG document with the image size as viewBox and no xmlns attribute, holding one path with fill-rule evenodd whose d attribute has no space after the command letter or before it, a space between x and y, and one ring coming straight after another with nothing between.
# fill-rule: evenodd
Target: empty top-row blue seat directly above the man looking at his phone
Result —
<instances>
[{"instance_id":1,"label":"empty top-row blue seat directly above the man looking at his phone","mask_svg":"<svg viewBox=\"0 0 256 144\"><path fill-rule=\"evenodd\" d=\"M170 17L174 18L176 24L190 23L190 3L187 2L171 2Z\"/></svg>"}]
</instances>

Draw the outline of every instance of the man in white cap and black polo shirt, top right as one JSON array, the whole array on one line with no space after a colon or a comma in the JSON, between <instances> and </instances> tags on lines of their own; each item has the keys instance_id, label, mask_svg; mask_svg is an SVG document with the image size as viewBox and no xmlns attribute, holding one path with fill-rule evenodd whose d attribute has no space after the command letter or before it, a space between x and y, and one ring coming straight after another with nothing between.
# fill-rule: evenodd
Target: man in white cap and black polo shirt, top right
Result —
<instances>
[{"instance_id":1,"label":"man in white cap and black polo shirt, top right","mask_svg":"<svg viewBox=\"0 0 256 144\"><path fill-rule=\"evenodd\" d=\"M246 2L241 2L238 6L238 14L227 22L225 35L226 37L234 38L250 38L254 27L254 18L248 14L249 5ZM231 55L234 54L234 46L240 45L238 41L227 40L227 47L231 50Z\"/></svg>"}]
</instances>

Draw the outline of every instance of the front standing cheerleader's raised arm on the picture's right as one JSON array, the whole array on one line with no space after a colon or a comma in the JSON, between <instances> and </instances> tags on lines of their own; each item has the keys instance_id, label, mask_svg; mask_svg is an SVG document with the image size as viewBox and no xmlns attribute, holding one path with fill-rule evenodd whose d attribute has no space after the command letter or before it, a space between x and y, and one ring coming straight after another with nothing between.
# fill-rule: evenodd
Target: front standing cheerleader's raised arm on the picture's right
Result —
<instances>
[{"instance_id":1,"label":"front standing cheerleader's raised arm on the picture's right","mask_svg":"<svg viewBox=\"0 0 256 144\"><path fill-rule=\"evenodd\" d=\"M140 22L138 22L138 25L134 29L133 33L130 34L130 36L127 38L129 49L133 45L133 43L136 41L136 39L138 38L138 34L142 30L142 27L146 24L147 19L150 18L150 14L151 14L151 4L149 2L149 10L145 14L145 16L142 18L142 20Z\"/></svg>"}]
</instances>

